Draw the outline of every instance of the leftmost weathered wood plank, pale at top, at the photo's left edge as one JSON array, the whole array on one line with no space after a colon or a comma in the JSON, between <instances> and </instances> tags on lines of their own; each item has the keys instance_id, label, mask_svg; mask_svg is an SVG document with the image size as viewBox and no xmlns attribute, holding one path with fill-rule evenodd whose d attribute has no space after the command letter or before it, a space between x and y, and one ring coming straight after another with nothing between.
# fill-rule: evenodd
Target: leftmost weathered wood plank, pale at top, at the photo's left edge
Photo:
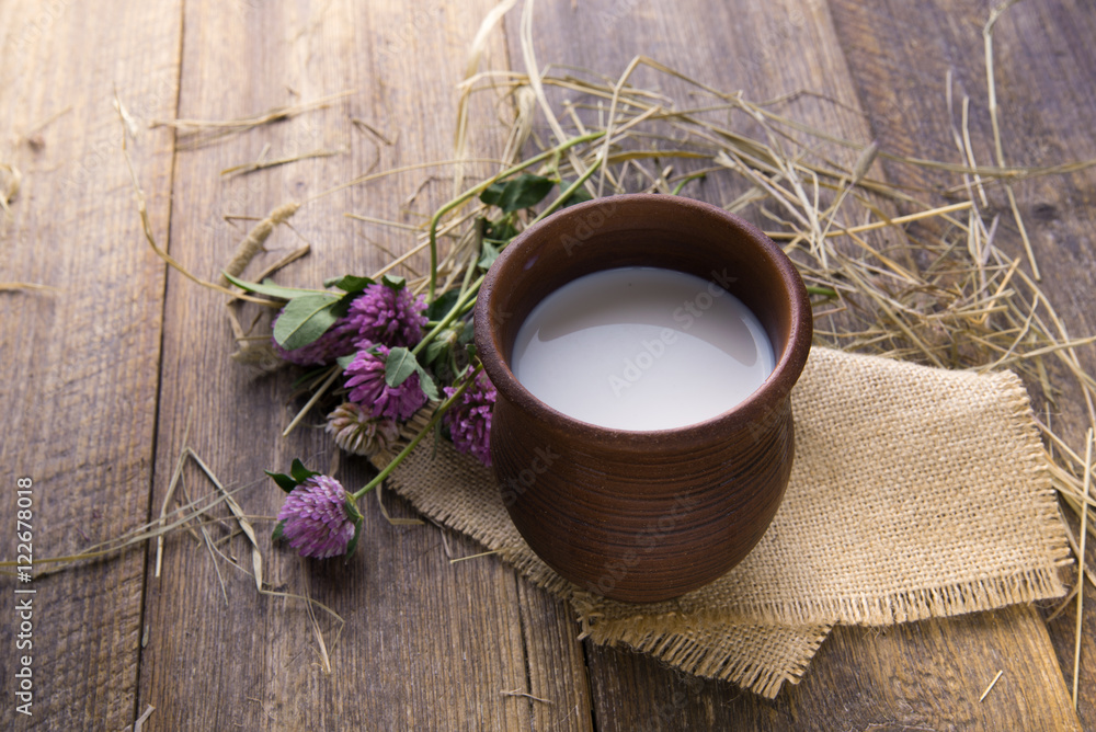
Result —
<instances>
[{"instance_id":1,"label":"leftmost weathered wood plank, pale at top, at the photo's left edge","mask_svg":"<svg viewBox=\"0 0 1096 732\"><path fill-rule=\"evenodd\" d=\"M33 487L34 556L72 553L146 521L156 428L163 265L145 245L114 92L138 123L174 112L180 4L0 2L0 162L23 173L0 211L4 559L14 559L15 480ZM170 207L171 135L130 148ZM160 233L162 235L162 226ZM103 729L132 721L145 553L136 550L33 588L32 647L16 649L14 579L0 619L0 724ZM42 567L36 568L42 571ZM15 711L16 659L32 657L33 717Z\"/></svg>"}]
</instances>

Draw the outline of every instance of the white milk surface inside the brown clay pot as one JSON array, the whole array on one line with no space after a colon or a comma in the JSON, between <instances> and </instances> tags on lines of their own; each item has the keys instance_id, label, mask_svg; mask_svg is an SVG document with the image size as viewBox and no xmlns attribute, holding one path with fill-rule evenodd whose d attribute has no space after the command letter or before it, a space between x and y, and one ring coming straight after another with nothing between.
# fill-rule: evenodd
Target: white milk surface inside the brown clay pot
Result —
<instances>
[{"instance_id":1,"label":"white milk surface inside the brown clay pot","mask_svg":"<svg viewBox=\"0 0 1096 732\"><path fill-rule=\"evenodd\" d=\"M775 368L765 329L718 284L727 276L620 267L570 282L522 323L514 376L549 407L605 427L667 430L721 414Z\"/></svg>"}]
</instances>

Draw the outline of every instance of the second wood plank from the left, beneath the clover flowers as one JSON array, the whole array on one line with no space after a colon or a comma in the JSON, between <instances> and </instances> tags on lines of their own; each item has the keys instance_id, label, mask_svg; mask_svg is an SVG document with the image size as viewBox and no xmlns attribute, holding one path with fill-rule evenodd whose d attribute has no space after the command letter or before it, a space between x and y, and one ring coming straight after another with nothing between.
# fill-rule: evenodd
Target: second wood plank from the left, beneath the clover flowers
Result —
<instances>
[{"instance_id":1,"label":"second wood plank from the left, beneath the clover flowers","mask_svg":"<svg viewBox=\"0 0 1096 732\"><path fill-rule=\"evenodd\" d=\"M452 157L454 85L464 71L458 61L492 5L187 3L181 116L229 118L344 89L356 92L329 108L181 151L173 183L174 255L213 276L240 237L219 220L222 213L264 216L374 164L380 171ZM498 58L505 53L501 39L487 50L493 64L505 65ZM496 153L502 141L488 128L472 135L469 147ZM258 158L266 144L271 158L294 147L349 152L218 176ZM427 173L438 180L406 203ZM300 285L347 270L364 274L388 261L381 247L406 251L410 235L358 224L343 213L419 224L452 194L450 174L409 173L305 206L292 224L312 243L312 255L279 278ZM263 262L297 245L289 230L279 229ZM424 262L420 256L412 266L421 272ZM256 376L229 362L220 299L174 273L168 291L156 505L191 410L190 444L232 485L262 477L264 468L284 469L295 456L327 468L334 448L321 431L278 436L300 407L285 403L296 374ZM362 461L344 459L339 474L347 485L367 479ZM187 483L192 494L208 490L193 472ZM265 479L240 494L249 513L267 516L281 500ZM401 513L398 500L386 501ZM148 577L140 706L157 707L153 729L550 729L574 707L589 727L582 649L567 613L490 558L450 565L449 552L479 551L452 533L389 526L372 505L365 513L362 544L349 565L305 562L288 550L267 553L266 579L276 588L309 592L345 619L339 631L331 617L316 613L330 675L300 602L258 596L247 576L222 562L226 605L208 552L185 535L169 542L163 576ZM269 522L256 526L264 551L271 528ZM249 565L242 538L225 549Z\"/></svg>"}]
</instances>

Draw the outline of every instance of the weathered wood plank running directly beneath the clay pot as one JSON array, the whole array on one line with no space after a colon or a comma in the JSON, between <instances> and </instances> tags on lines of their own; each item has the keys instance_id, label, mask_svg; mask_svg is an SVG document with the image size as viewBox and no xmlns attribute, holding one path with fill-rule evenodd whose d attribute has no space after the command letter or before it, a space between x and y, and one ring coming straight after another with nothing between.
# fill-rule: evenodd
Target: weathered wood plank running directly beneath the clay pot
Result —
<instances>
[{"instance_id":1,"label":"weathered wood plank running directly beneath the clay pot","mask_svg":"<svg viewBox=\"0 0 1096 732\"><path fill-rule=\"evenodd\" d=\"M895 33L913 22L895 22ZM785 113L848 139L874 137L868 124L872 117L858 112L861 89L849 76L829 8L820 2L729 8L698 0L673 9L646 2L584 2L578 8L541 3L535 26L541 65L563 61L614 76L633 55L643 53L717 88L741 88L754 100L804 89L820 92L836 103L800 98ZM510 30L511 56L520 58L516 21ZM867 30L856 33L871 37ZM980 47L970 53L975 61L981 57ZM916 64L915 58L891 61L895 75ZM671 91L675 85L663 83ZM890 89L910 88L910 95L918 100L937 93L937 87L916 75L895 76L888 83ZM886 113L890 110L886 102L871 100L869 108L874 103L880 114ZM926 155L925 149L913 149ZM927 153L933 152L928 148ZM711 180L690 193L726 202L733 191ZM1006 652L1013 644L1025 649L1026 671L1017 667L1011 676L1012 701L998 701L1000 708L980 706L978 696L1001 663L1002 649L991 645L998 633L1012 639ZM587 653L601 729L848 729L857 723L886 728L909 724L918 714L933 722L931 729L1015 729L1020 719L1027 722L1020 723L1023 729L1076 724L1047 631L1035 614L1025 610L886 631L842 629L823 647L803 683L773 704L729 685L685 679L628 652L587 648ZM892 676L899 668L902 673ZM922 690L932 693L940 710L929 713L920 705L911 707L917 699L916 679L924 679ZM966 689L979 684L983 685L971 697ZM959 688L963 694L956 693ZM973 727L964 727L966 721Z\"/></svg>"}]
</instances>

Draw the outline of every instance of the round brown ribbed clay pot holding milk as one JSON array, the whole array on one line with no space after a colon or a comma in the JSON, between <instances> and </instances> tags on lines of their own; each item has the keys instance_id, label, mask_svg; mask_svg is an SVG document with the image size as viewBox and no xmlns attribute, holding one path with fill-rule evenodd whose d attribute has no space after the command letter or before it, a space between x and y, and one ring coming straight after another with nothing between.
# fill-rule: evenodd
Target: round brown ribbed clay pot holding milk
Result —
<instances>
[{"instance_id":1,"label":"round brown ribbed clay pot holding milk","mask_svg":"<svg viewBox=\"0 0 1096 732\"><path fill-rule=\"evenodd\" d=\"M582 275L657 266L727 289L761 320L776 369L711 420L650 432L581 422L529 393L509 366L522 322ZM491 455L533 550L581 588L628 602L695 590L734 567L773 519L791 471L789 393L807 362L810 301L764 233L715 206L623 195L563 209L499 256L476 304L476 345L498 389Z\"/></svg>"}]
</instances>

